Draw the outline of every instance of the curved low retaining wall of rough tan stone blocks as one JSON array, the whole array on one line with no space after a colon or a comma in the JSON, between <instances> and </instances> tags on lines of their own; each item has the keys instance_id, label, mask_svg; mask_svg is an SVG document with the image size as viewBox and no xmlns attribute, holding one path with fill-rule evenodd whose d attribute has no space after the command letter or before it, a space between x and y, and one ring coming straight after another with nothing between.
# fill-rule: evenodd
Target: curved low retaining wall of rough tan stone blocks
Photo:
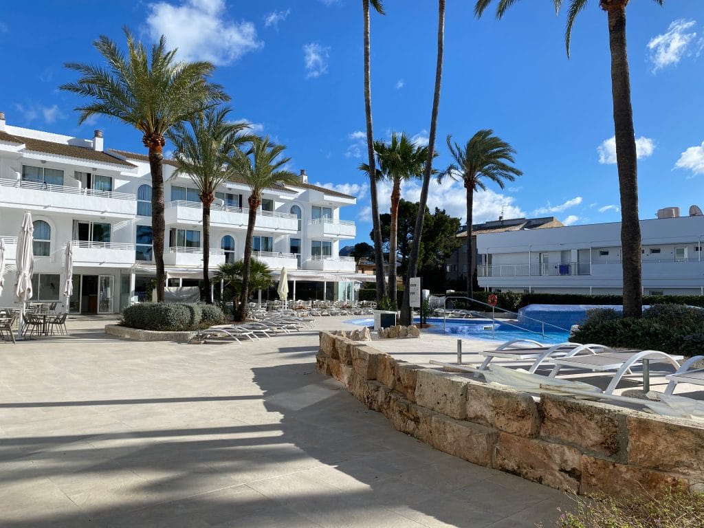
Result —
<instances>
[{"instance_id":1,"label":"curved low retaining wall of rough tan stone blocks","mask_svg":"<svg viewBox=\"0 0 704 528\"><path fill-rule=\"evenodd\" d=\"M426 369L320 332L318 370L398 431L474 464L579 494L704 483L704 425L529 394Z\"/></svg>"}]
</instances>

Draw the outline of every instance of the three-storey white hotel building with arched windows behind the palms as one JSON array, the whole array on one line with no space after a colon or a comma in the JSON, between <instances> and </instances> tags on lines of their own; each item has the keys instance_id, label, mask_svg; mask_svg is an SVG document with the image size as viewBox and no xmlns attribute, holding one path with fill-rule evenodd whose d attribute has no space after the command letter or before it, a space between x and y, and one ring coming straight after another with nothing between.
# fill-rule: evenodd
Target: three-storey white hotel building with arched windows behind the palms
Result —
<instances>
[{"instance_id":1,"label":"three-storey white hotel building with arched windows behind the palms","mask_svg":"<svg viewBox=\"0 0 704 528\"><path fill-rule=\"evenodd\" d=\"M168 287L202 278L199 193L189 177L172 178L164 162L164 264ZM249 187L227 182L210 215L210 270L244 254ZM340 209L354 196L301 182L266 189L254 231L254 254L277 280L287 268L294 298L345 299L360 281L340 241L355 238ZM107 149L101 132L80 139L6 124L0 113L0 238L6 244L0 306L13 306L17 235L25 210L34 222L34 298L63 305L65 248L73 246L71 313L117 313L144 298L156 275L151 246L151 173L143 154ZM289 294L290 296L291 294Z\"/></svg>"}]
</instances>

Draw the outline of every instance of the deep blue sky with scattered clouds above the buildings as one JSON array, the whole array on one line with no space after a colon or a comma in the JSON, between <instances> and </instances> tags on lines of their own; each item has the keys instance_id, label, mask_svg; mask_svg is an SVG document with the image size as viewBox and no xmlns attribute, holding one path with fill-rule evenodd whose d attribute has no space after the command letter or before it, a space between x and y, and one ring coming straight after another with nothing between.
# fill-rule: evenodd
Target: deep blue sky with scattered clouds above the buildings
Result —
<instances>
[{"instance_id":1,"label":"deep blue sky with scattered clouds above the buildings","mask_svg":"<svg viewBox=\"0 0 704 528\"><path fill-rule=\"evenodd\" d=\"M70 6L70 7L66 7ZM427 141L435 68L436 2L385 0L372 15L375 138L392 131ZM475 195L474 222L555 215L568 224L620 220L613 143L606 15L591 1L565 54L565 14L523 1L503 20L477 20L472 2L448 1L436 168L450 162L447 134L464 143L492 128L512 144L524 175ZM704 2L633 1L627 38L641 218L665 206L704 206ZM164 0L70 3L38 0L0 15L0 110L9 125L92 137L142 151L141 136L97 118L77 126L80 100L58 85L76 79L65 62L99 63L92 42L106 34L124 48L122 26L151 44L165 34L180 57L218 65L214 80L233 114L287 145L289 168L312 183L358 196L342 217L369 241L364 161L362 12L358 0ZM699 95L697 95L699 94ZM168 146L167 146L168 149ZM417 199L411 182L404 196ZM388 208L390 189L379 187ZM465 216L460 184L431 184L429 206Z\"/></svg>"}]
</instances>

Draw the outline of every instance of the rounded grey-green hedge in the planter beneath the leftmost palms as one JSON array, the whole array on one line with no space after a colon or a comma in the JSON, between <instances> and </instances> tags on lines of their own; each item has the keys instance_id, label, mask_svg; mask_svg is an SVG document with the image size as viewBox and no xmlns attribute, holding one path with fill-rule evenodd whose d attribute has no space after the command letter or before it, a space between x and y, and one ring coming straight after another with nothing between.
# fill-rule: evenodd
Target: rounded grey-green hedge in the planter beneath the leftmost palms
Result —
<instances>
[{"instance_id":1,"label":"rounded grey-green hedge in the planter beneath the leftmost palms","mask_svg":"<svg viewBox=\"0 0 704 528\"><path fill-rule=\"evenodd\" d=\"M122 311L122 324L160 332L184 332L225 320L217 306L198 303L139 303Z\"/></svg>"}]
</instances>

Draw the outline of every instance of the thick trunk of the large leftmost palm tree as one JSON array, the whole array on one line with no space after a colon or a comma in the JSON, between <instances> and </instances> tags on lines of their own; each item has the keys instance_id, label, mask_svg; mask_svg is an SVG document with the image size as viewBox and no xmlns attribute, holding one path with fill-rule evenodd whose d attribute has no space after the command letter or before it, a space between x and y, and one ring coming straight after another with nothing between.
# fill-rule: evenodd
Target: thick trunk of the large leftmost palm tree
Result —
<instances>
[{"instance_id":1,"label":"thick trunk of the large leftmost palm tree","mask_svg":"<svg viewBox=\"0 0 704 528\"><path fill-rule=\"evenodd\" d=\"M145 135L142 139L149 148L149 170L151 170L151 244L156 265L156 301L164 302L164 180L163 153L165 140L160 134Z\"/></svg>"}]
</instances>

